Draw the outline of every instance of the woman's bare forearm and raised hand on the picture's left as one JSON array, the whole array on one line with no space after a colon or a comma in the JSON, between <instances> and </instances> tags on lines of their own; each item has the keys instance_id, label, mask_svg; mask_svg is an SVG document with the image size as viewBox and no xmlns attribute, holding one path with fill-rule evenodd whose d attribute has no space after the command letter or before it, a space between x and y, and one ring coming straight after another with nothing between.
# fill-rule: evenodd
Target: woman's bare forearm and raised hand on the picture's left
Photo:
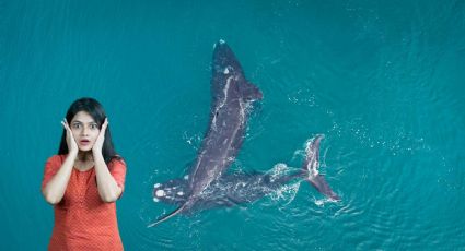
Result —
<instances>
[{"instance_id":1,"label":"woman's bare forearm and raised hand on the picture's left","mask_svg":"<svg viewBox=\"0 0 465 251\"><path fill-rule=\"evenodd\" d=\"M72 167L74 166L74 160L78 157L79 152L78 144L75 143L71 129L66 120L62 121L61 124L67 130L69 154L57 174L55 174L54 178L51 178L42 190L42 194L44 194L45 200L53 205L59 203L65 195L69 178L71 177Z\"/></svg>"}]
</instances>

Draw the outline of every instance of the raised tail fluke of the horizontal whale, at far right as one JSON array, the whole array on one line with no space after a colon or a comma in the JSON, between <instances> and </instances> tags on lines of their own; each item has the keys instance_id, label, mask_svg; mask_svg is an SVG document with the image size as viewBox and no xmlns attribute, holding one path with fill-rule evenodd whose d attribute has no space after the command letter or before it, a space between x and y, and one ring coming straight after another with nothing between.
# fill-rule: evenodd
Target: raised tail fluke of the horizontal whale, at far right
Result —
<instances>
[{"instance_id":1,"label":"raised tail fluke of the horizontal whale, at far right","mask_svg":"<svg viewBox=\"0 0 465 251\"><path fill-rule=\"evenodd\" d=\"M337 195L329 184L326 182L324 176L318 174L319 168L319 144L324 139L323 134L315 136L313 141L309 141L305 147L305 162L302 165L303 171L306 174L306 179L310 183L318 190L322 194L334 201L339 201Z\"/></svg>"}]
</instances>

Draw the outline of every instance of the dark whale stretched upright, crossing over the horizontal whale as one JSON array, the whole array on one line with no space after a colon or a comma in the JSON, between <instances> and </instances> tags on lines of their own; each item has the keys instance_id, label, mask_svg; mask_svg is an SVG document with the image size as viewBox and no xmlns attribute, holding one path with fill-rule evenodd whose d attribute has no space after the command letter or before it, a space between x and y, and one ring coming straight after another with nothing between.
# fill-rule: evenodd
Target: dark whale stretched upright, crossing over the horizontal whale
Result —
<instances>
[{"instance_id":1,"label":"dark whale stretched upright, crossing over the horizontal whale","mask_svg":"<svg viewBox=\"0 0 465 251\"><path fill-rule=\"evenodd\" d=\"M261 91L247 81L234 52L224 40L213 46L211 62L211 107L207 132L185 182L185 200L172 213L148 227L190 211L210 184L234 162L244 141L252 104L263 98Z\"/></svg>"}]
</instances>

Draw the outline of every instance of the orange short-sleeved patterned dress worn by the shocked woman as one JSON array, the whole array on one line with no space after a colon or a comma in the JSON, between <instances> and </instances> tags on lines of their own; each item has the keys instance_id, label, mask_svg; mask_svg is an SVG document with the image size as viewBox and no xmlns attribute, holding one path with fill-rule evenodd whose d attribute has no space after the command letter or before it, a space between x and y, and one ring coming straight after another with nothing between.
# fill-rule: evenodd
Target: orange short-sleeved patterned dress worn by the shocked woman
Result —
<instances>
[{"instance_id":1,"label":"orange short-sleeved patterned dress worn by the shocked woman","mask_svg":"<svg viewBox=\"0 0 465 251\"><path fill-rule=\"evenodd\" d=\"M45 165L42 188L55 176L66 155L54 155ZM126 164L112 160L109 172L124 190ZM95 168L72 169L65 195L54 206L55 226L48 250L123 250L116 219L116 203L105 203L97 190Z\"/></svg>"}]
</instances>

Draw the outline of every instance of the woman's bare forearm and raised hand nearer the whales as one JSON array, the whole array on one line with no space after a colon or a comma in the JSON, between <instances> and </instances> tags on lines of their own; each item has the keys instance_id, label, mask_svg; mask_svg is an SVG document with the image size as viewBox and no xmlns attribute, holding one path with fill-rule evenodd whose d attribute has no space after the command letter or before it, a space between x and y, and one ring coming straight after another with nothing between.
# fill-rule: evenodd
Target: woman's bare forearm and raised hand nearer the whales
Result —
<instances>
[{"instance_id":1,"label":"woman's bare forearm and raised hand nearer the whales","mask_svg":"<svg viewBox=\"0 0 465 251\"><path fill-rule=\"evenodd\" d=\"M118 187L116 180L109 174L108 167L105 164L105 159L102 155L103 142L105 140L105 131L108 127L108 120L105 119L105 122L102 124L102 129L95 141L94 146L92 147L92 154L94 156L95 164L95 176L97 178L97 189L98 195L104 202L115 202L118 200L119 195L123 192L123 189Z\"/></svg>"}]
</instances>

